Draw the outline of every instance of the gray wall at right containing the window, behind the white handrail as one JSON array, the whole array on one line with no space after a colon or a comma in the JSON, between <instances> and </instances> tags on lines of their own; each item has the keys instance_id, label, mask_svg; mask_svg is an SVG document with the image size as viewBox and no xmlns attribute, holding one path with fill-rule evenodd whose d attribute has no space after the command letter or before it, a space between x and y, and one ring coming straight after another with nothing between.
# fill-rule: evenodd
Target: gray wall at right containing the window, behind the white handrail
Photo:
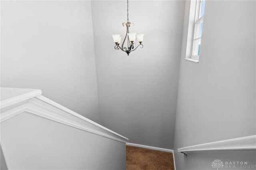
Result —
<instances>
[{"instance_id":1,"label":"gray wall at right containing the window, behind the white handrail","mask_svg":"<svg viewBox=\"0 0 256 170\"><path fill-rule=\"evenodd\" d=\"M186 1L174 149L256 134L256 2L206 1L199 63L184 59L189 8ZM256 165L256 152L175 153L177 170L211 170L214 159Z\"/></svg>"}]
</instances>

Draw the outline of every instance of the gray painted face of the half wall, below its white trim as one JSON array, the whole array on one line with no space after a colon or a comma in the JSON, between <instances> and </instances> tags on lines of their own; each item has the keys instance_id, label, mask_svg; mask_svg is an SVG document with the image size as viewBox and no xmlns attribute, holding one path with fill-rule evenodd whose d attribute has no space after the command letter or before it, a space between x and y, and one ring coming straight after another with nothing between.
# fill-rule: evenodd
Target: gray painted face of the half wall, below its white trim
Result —
<instances>
[{"instance_id":1,"label":"gray painted face of the half wall, below its white trim","mask_svg":"<svg viewBox=\"0 0 256 170\"><path fill-rule=\"evenodd\" d=\"M26 112L1 123L1 146L10 170L126 169L125 143Z\"/></svg>"}]
</instances>

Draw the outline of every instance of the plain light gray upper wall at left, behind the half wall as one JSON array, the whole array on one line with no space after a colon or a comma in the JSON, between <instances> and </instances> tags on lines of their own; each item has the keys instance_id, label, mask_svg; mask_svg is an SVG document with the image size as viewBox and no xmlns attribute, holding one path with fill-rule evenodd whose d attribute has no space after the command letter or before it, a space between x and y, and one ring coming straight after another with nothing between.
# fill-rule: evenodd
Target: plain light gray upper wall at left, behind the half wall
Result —
<instances>
[{"instance_id":1,"label":"plain light gray upper wall at left, behind the half wall","mask_svg":"<svg viewBox=\"0 0 256 170\"><path fill-rule=\"evenodd\" d=\"M1 87L43 95L99 122L90 1L1 1Z\"/></svg>"}]
</instances>

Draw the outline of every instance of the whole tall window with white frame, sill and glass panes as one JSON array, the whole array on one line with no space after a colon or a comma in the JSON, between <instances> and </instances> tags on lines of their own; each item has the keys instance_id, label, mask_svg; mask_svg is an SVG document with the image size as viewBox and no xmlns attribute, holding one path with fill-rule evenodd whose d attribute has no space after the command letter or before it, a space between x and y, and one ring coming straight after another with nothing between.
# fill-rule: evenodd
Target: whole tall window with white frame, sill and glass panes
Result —
<instances>
[{"instance_id":1,"label":"whole tall window with white frame, sill and glass panes","mask_svg":"<svg viewBox=\"0 0 256 170\"><path fill-rule=\"evenodd\" d=\"M186 59L198 63L206 0L191 0Z\"/></svg>"}]
</instances>

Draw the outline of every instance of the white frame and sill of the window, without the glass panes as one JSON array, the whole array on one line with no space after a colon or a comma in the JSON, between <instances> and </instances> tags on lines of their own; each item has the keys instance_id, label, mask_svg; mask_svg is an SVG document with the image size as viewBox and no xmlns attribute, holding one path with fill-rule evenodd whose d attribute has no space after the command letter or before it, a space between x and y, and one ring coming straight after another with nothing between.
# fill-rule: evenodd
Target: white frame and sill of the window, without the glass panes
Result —
<instances>
[{"instance_id":1,"label":"white frame and sill of the window, without the glass panes","mask_svg":"<svg viewBox=\"0 0 256 170\"><path fill-rule=\"evenodd\" d=\"M203 1L205 1L205 0L191 0L190 1L188 39L187 39L186 58L185 59L187 59L189 61L196 62L196 63L199 62L199 55L193 55L194 54L194 46L197 45L195 43L196 40L199 40L199 39L202 40L202 35L200 37L199 30L198 30L198 35L196 35L195 30L196 30L196 24L198 24L204 20L204 15L202 17L200 17L201 5L202 5ZM199 29L200 29L200 25L199 25ZM197 47L198 47L198 45L197 45Z\"/></svg>"}]
</instances>

